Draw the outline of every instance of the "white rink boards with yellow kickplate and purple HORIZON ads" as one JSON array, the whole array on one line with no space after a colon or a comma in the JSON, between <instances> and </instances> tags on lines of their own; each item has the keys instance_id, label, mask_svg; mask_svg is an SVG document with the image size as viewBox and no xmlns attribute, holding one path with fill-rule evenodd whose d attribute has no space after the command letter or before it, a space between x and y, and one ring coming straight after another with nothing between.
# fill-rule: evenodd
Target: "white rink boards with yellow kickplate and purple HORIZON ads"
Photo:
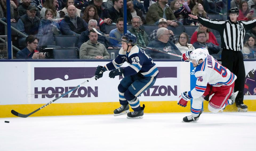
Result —
<instances>
[{"instance_id":1,"label":"white rink boards with yellow kickplate and purple HORIZON ads","mask_svg":"<svg viewBox=\"0 0 256 151\"><path fill-rule=\"evenodd\" d=\"M103 66L109 61L0 61L1 71L9 71L1 73L0 117L14 117L11 110L22 114L36 110L60 96L59 93L65 93L93 77L96 66ZM179 95L189 90L190 79L194 76L193 69L188 70L190 63L179 60L159 60L155 63L159 69L158 78L154 86L139 97L141 104L146 106L145 112L190 112L190 102L186 108L177 105ZM255 70L255 64L256 61L245 61L246 74ZM117 86L122 77L110 79L108 73L31 116L112 114L120 106ZM256 111L255 94L245 96L244 103L249 111ZM205 111L207 104L204 102ZM236 111L236 108L228 106L226 110Z\"/></svg>"}]
</instances>

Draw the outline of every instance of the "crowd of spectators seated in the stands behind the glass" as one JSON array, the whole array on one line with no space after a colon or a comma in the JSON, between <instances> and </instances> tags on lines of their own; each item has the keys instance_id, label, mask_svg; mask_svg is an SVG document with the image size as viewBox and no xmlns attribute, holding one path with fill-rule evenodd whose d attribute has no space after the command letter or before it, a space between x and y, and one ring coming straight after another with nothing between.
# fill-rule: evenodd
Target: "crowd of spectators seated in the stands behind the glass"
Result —
<instances>
[{"instance_id":1,"label":"crowd of spectators seated in the stands behind the glass","mask_svg":"<svg viewBox=\"0 0 256 151\"><path fill-rule=\"evenodd\" d=\"M231 1L231 7L239 8L238 20L256 18L255 2L256 0ZM199 24L197 20L189 17L188 14L207 19L211 19L207 14L226 14L223 0L144 0L143 4L140 0L127 0L126 3L127 24L131 24L131 28L126 32L137 36L137 44L179 55L187 50L206 47L215 58L220 58L221 49L216 35L210 29ZM6 0L0 0L0 5L0 18L6 22ZM121 39L124 30L123 0L108 0L106 3L103 3L102 0L11 0L10 5L11 22L17 22L17 29L26 36L77 36L80 58L106 59L110 57L107 49L121 47L120 41L98 36L96 32L92 31L92 28ZM107 30L108 25L111 24L116 25L116 28L112 28L111 31ZM147 35L144 25L156 25L156 28L150 35ZM185 32L175 35L172 30L167 29L168 26L175 28L181 25L197 25L198 28L193 35L190 35L191 37ZM2 27L4 26L1 24L0 32L1 35L4 35L5 31ZM26 52L30 51L30 48L32 49L31 45L39 41L35 37L26 40L23 35L18 34L18 36L18 47L26 49ZM255 58L256 56L255 36L256 27L245 35L245 45L242 50L245 58ZM149 50L146 52L152 58L178 58ZM42 58L42 55L37 58Z\"/></svg>"}]
</instances>

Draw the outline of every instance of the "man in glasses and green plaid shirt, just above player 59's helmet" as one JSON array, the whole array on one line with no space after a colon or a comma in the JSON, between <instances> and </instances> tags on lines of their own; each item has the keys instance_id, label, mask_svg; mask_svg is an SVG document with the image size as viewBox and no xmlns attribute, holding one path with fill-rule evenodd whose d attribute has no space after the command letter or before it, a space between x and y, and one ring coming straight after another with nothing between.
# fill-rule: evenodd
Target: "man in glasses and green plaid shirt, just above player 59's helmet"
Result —
<instances>
[{"instance_id":1,"label":"man in glasses and green plaid shirt, just above player 59's helmet","mask_svg":"<svg viewBox=\"0 0 256 151\"><path fill-rule=\"evenodd\" d=\"M141 18L139 16L134 16L132 19L132 27L129 29L129 32L133 33L137 37L137 44L147 46L149 40L147 33L140 28Z\"/></svg>"}]
</instances>

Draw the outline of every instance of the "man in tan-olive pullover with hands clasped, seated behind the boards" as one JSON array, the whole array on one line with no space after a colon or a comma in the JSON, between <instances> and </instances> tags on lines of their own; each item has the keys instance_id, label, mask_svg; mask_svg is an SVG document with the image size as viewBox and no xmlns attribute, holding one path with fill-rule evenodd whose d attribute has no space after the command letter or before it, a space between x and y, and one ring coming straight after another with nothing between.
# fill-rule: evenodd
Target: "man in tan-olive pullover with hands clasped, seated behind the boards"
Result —
<instances>
[{"instance_id":1,"label":"man in tan-olive pullover with hands clasped, seated behind the boards","mask_svg":"<svg viewBox=\"0 0 256 151\"><path fill-rule=\"evenodd\" d=\"M94 30L90 30L89 38L86 43L83 43L80 47L80 59L109 59L110 55L107 52L105 46L99 43L98 33Z\"/></svg>"}]
</instances>

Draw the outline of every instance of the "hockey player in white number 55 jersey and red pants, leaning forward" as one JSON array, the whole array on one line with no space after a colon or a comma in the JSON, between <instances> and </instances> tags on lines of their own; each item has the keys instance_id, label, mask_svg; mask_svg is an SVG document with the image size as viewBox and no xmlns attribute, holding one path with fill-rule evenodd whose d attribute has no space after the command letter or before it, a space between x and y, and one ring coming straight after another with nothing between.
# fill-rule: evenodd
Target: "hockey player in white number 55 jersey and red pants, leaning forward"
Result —
<instances>
[{"instance_id":1,"label":"hockey player in white number 55 jersey and red pants, leaning forward","mask_svg":"<svg viewBox=\"0 0 256 151\"><path fill-rule=\"evenodd\" d=\"M190 60L192 62L195 67L195 77L197 77L195 88L183 92L179 97L178 105L183 107L187 106L188 100L193 99L192 115L185 116L182 122L194 122L199 119L205 96L213 94L209 100L208 109L217 113L228 104L233 104L238 93L232 93L236 75L219 64L213 56L207 54L205 49L198 48L182 54L182 61Z\"/></svg>"}]
</instances>

